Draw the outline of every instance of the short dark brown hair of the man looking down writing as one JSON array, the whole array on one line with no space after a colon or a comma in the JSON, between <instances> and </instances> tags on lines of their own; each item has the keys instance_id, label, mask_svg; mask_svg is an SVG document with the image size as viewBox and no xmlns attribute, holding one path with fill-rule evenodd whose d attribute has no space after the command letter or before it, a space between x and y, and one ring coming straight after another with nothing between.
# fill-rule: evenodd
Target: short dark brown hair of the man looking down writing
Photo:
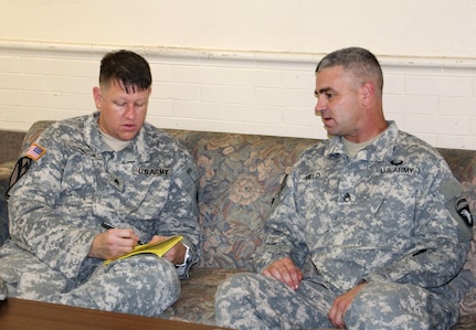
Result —
<instances>
[{"instance_id":1,"label":"short dark brown hair of the man looking down writing","mask_svg":"<svg viewBox=\"0 0 476 330\"><path fill-rule=\"evenodd\" d=\"M148 89L152 84L149 63L137 53L127 50L109 52L101 61L99 86L118 83L126 93Z\"/></svg>"}]
</instances>

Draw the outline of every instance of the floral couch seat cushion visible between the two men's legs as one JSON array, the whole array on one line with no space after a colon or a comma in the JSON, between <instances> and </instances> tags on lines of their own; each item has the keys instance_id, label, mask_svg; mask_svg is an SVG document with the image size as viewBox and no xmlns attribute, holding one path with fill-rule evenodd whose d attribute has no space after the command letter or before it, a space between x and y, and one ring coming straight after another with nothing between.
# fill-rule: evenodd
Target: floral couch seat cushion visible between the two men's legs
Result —
<instances>
[{"instance_id":1,"label":"floral couch seat cushion visible between the two men's legs","mask_svg":"<svg viewBox=\"0 0 476 330\"><path fill-rule=\"evenodd\" d=\"M245 269L193 267L190 279L181 281L180 298L160 318L213 326L218 285L229 276Z\"/></svg>"}]
</instances>

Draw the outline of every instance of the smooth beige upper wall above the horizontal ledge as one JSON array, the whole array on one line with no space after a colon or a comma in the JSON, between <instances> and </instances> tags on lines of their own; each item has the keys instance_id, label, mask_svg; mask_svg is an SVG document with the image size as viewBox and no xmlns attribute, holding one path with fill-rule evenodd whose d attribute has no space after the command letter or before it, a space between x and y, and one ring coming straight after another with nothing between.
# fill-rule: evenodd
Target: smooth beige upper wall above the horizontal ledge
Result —
<instances>
[{"instance_id":1,"label":"smooth beige upper wall above the horizontal ledge","mask_svg":"<svg viewBox=\"0 0 476 330\"><path fill-rule=\"evenodd\" d=\"M0 40L476 57L474 0L1 0Z\"/></svg>"}]
</instances>

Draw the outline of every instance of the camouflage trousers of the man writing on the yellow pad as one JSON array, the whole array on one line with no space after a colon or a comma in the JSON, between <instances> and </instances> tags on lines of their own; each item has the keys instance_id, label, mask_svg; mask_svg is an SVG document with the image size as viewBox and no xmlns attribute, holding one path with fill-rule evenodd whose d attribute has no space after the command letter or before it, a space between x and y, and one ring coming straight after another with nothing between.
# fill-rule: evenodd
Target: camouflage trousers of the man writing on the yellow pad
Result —
<instances>
[{"instance_id":1,"label":"camouflage trousers of the man writing on the yellow pad","mask_svg":"<svg viewBox=\"0 0 476 330\"><path fill-rule=\"evenodd\" d=\"M11 297L142 316L160 315L180 295L176 267L147 254L101 264L77 284L19 252L0 255L0 277Z\"/></svg>"}]
</instances>

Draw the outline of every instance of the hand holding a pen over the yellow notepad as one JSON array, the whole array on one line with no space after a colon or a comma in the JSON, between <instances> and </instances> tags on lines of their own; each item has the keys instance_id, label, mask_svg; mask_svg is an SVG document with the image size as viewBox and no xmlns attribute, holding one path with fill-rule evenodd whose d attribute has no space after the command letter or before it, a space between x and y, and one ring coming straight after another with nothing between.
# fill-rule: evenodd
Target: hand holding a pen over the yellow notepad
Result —
<instances>
[{"instance_id":1,"label":"hand holding a pen over the yellow notepad","mask_svg":"<svg viewBox=\"0 0 476 330\"><path fill-rule=\"evenodd\" d=\"M89 257L99 259L114 259L133 251L139 236L134 230L108 230L94 237L91 245Z\"/></svg>"}]
</instances>

